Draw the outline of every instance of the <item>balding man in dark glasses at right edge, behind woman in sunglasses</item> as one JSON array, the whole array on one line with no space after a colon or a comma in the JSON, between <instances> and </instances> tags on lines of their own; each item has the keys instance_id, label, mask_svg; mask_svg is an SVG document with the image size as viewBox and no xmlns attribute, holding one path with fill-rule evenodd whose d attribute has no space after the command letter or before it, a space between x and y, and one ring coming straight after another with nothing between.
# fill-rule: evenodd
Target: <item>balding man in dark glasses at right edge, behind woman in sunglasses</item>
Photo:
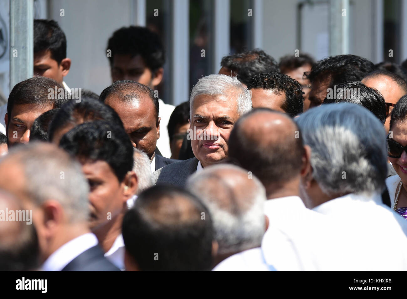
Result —
<instances>
[{"instance_id":1,"label":"balding man in dark glasses at right edge, behind woman in sunglasses","mask_svg":"<svg viewBox=\"0 0 407 299\"><path fill-rule=\"evenodd\" d=\"M362 83L368 87L373 87L383 95L386 104L386 122L384 126L388 133L393 107L402 96L407 94L407 83L397 74L385 70L371 72L363 78Z\"/></svg>"}]
</instances>

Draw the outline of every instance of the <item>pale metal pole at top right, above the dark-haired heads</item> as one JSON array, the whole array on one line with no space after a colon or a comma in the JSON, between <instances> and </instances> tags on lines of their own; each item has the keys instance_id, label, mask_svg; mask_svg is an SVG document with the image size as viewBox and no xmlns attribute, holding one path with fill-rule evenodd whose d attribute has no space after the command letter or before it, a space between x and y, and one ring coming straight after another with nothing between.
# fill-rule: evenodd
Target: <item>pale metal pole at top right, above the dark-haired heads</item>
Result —
<instances>
[{"instance_id":1,"label":"pale metal pole at top right, above the dark-haired heads","mask_svg":"<svg viewBox=\"0 0 407 299\"><path fill-rule=\"evenodd\" d=\"M349 0L330 0L329 55L349 53Z\"/></svg>"}]
</instances>

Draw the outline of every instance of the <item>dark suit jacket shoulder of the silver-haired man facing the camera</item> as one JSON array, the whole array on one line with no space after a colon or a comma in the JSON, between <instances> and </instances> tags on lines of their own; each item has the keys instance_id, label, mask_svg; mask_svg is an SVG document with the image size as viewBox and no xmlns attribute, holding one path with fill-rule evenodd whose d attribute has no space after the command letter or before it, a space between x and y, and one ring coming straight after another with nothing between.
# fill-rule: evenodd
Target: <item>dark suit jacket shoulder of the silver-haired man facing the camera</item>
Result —
<instances>
[{"instance_id":1,"label":"dark suit jacket shoulder of the silver-haired man facing the camera","mask_svg":"<svg viewBox=\"0 0 407 299\"><path fill-rule=\"evenodd\" d=\"M156 184L184 187L186 179L197 171L198 159L175 162L153 172Z\"/></svg>"}]
</instances>

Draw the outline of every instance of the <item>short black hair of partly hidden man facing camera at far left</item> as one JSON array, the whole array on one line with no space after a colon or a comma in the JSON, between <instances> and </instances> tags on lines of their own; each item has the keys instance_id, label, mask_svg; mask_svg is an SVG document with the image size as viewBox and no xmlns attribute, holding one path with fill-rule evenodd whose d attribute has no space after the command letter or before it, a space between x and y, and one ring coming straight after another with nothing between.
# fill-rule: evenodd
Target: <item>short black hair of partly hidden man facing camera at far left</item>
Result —
<instances>
[{"instance_id":1,"label":"short black hair of partly hidden man facing camera at far left","mask_svg":"<svg viewBox=\"0 0 407 299\"><path fill-rule=\"evenodd\" d=\"M62 89L64 94L67 93L63 86L57 81L42 76L35 76L17 83L11 90L7 102L9 123L11 120L11 111L15 105L51 105L51 108L55 109L70 101L65 96L63 96L63 98L58 98L57 94L54 96L55 88L58 90Z\"/></svg>"}]
</instances>

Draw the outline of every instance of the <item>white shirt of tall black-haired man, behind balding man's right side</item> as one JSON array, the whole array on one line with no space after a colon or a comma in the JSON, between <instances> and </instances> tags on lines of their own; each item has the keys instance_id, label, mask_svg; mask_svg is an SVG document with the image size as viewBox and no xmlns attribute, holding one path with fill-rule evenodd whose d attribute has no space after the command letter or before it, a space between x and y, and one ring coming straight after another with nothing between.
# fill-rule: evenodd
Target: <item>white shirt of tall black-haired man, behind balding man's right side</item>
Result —
<instances>
[{"instance_id":1,"label":"white shirt of tall black-haired man, behind balding man's right side","mask_svg":"<svg viewBox=\"0 0 407 299\"><path fill-rule=\"evenodd\" d=\"M158 99L158 116L160 120L160 138L157 140L157 147L163 157L171 157L170 137L168 136L168 121L175 106L164 103L162 99Z\"/></svg>"}]
</instances>

